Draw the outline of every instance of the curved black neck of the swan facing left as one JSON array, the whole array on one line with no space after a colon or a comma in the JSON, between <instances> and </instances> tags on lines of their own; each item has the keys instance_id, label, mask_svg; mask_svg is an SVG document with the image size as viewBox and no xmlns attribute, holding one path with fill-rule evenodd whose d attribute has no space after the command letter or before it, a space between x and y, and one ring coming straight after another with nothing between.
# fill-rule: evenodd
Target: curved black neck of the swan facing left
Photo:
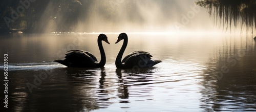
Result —
<instances>
[{"instance_id":1,"label":"curved black neck of the swan facing left","mask_svg":"<svg viewBox=\"0 0 256 112\"><path fill-rule=\"evenodd\" d=\"M126 49L127 43L128 43L128 38L124 38L122 48L120 49L120 51L116 57L116 68L124 68L125 67L124 64L122 64L121 60L122 60L124 50Z\"/></svg>"}]
</instances>

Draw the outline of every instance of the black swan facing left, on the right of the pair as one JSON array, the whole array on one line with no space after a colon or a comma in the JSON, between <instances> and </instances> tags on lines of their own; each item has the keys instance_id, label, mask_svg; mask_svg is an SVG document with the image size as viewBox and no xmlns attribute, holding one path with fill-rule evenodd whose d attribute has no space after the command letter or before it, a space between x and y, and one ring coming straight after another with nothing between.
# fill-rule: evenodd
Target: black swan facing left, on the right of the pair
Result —
<instances>
[{"instance_id":1,"label":"black swan facing left, on the right of the pair","mask_svg":"<svg viewBox=\"0 0 256 112\"><path fill-rule=\"evenodd\" d=\"M118 36L116 43L123 39L123 45L116 57L116 68L118 69L133 69L133 68L151 68L155 64L162 62L160 60L151 60L152 55L145 51L134 51L122 59L123 52L128 43L126 33L121 33Z\"/></svg>"}]
</instances>

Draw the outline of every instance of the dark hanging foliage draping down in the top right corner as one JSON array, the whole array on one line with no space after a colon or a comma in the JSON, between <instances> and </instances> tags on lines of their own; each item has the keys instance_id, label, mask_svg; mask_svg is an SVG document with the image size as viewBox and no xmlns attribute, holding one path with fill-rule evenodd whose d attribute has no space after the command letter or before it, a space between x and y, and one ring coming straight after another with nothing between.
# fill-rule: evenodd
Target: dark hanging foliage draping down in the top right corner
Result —
<instances>
[{"instance_id":1,"label":"dark hanging foliage draping down in the top right corner","mask_svg":"<svg viewBox=\"0 0 256 112\"><path fill-rule=\"evenodd\" d=\"M215 23L226 25L246 26L246 29L256 28L256 0L202 0L197 5L208 9Z\"/></svg>"}]
</instances>

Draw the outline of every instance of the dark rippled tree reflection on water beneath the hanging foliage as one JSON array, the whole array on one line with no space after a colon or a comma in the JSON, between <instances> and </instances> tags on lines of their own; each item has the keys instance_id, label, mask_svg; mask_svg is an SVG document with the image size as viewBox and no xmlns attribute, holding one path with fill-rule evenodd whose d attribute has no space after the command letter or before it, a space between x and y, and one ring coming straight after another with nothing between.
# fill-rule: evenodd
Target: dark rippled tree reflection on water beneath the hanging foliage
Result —
<instances>
[{"instance_id":1,"label":"dark rippled tree reflection on water beneath the hanging foliage","mask_svg":"<svg viewBox=\"0 0 256 112\"><path fill-rule=\"evenodd\" d=\"M254 41L223 41L209 58L202 83L202 108L207 111L255 111L256 64Z\"/></svg>"}]
</instances>

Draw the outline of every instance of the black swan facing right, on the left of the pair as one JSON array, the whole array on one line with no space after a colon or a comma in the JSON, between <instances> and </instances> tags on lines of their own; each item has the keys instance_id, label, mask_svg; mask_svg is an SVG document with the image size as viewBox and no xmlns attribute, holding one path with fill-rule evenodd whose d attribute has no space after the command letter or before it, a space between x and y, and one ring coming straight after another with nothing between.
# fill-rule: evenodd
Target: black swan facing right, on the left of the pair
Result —
<instances>
[{"instance_id":1,"label":"black swan facing right, on the left of the pair","mask_svg":"<svg viewBox=\"0 0 256 112\"><path fill-rule=\"evenodd\" d=\"M101 57L100 62L97 61L92 53L82 50L70 50L67 52L65 59L54 60L54 62L74 68L101 68L106 63L106 56L101 41L110 44L108 37L106 37L105 34L100 34L98 36L98 46Z\"/></svg>"}]
</instances>

